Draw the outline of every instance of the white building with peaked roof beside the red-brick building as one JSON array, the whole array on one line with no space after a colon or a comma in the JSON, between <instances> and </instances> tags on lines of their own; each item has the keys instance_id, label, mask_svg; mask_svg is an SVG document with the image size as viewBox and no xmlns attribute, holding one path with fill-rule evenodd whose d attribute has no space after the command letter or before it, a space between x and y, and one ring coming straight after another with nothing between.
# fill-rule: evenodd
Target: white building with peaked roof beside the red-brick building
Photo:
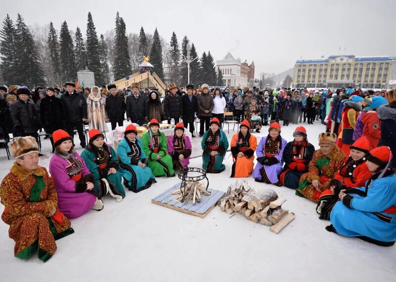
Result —
<instances>
[{"instance_id":1,"label":"white building with peaked roof beside the red-brick building","mask_svg":"<svg viewBox=\"0 0 396 282\"><path fill-rule=\"evenodd\" d=\"M216 61L216 66L223 74L223 85L240 88L248 86L249 68L242 65L240 58L235 59L231 53L227 53L224 59Z\"/></svg>"}]
</instances>

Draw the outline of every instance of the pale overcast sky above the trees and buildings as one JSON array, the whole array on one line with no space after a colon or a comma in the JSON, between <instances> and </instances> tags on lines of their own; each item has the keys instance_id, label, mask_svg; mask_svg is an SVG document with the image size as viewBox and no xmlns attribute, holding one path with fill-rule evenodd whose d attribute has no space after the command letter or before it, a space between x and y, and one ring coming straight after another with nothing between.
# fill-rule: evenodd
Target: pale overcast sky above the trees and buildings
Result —
<instances>
[{"instance_id":1,"label":"pale overcast sky above the trees and buildings","mask_svg":"<svg viewBox=\"0 0 396 282\"><path fill-rule=\"evenodd\" d=\"M158 28L179 44L185 35L198 55L210 50L214 59L227 52L248 63L255 77L280 73L297 59L321 55L396 56L396 0L0 0L1 20L20 13L27 25L53 22L57 32L66 20L85 37L88 11L99 34L114 28L117 11L127 33ZM341 51L339 50L341 46ZM345 49L346 48L346 49Z\"/></svg>"}]
</instances>

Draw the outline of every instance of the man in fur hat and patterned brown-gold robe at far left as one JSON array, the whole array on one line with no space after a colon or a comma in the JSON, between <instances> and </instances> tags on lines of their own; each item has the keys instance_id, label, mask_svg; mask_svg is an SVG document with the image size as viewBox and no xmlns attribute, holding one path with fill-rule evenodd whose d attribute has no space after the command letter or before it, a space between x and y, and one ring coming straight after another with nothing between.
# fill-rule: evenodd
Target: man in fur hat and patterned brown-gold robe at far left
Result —
<instances>
[{"instance_id":1,"label":"man in fur hat and patterned brown-gold robe at far left","mask_svg":"<svg viewBox=\"0 0 396 282\"><path fill-rule=\"evenodd\" d=\"M14 255L26 260L37 251L47 261L56 251L55 240L74 233L70 221L58 211L58 197L47 169L39 166L39 146L31 137L10 144L16 161L0 186L4 211L1 219L9 225L8 236L15 241Z\"/></svg>"}]
</instances>

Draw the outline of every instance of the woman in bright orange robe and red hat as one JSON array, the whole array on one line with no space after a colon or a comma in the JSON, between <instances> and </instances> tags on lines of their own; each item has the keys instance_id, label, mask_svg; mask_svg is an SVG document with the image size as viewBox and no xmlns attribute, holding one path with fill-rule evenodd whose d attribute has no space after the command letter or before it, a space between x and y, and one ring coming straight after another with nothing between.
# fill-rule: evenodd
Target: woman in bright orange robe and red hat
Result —
<instances>
[{"instance_id":1,"label":"woman in bright orange robe and red hat","mask_svg":"<svg viewBox=\"0 0 396 282\"><path fill-rule=\"evenodd\" d=\"M231 154L234 161L231 177L247 177L253 172L257 138L250 134L249 126L249 121L242 121L239 133L231 138Z\"/></svg>"}]
</instances>

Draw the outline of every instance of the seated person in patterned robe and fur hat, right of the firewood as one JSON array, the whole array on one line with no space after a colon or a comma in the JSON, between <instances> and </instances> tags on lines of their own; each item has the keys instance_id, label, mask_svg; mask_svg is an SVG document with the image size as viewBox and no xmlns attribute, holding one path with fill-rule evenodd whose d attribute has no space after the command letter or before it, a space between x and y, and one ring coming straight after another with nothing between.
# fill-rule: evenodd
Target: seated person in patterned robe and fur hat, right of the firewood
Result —
<instances>
[{"instance_id":1,"label":"seated person in patterned robe and fur hat, right of the firewood","mask_svg":"<svg viewBox=\"0 0 396 282\"><path fill-rule=\"evenodd\" d=\"M337 135L323 132L319 134L319 150L313 154L308 172L300 177L296 195L318 202L320 194L329 188L330 181L345 161L344 152L336 146Z\"/></svg>"}]
</instances>

